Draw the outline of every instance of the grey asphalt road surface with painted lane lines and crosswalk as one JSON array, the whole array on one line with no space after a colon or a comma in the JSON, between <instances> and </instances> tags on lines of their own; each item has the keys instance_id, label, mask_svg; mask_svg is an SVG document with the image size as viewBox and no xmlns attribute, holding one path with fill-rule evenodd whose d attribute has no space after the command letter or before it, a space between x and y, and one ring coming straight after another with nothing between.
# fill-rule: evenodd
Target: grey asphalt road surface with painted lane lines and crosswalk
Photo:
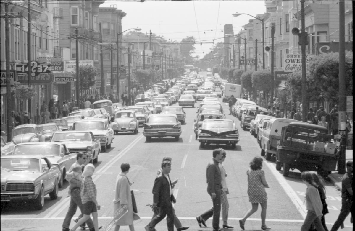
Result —
<instances>
[{"instance_id":1,"label":"grey asphalt road surface with painted lane lines and crosswalk","mask_svg":"<svg viewBox=\"0 0 355 231\"><path fill-rule=\"evenodd\" d=\"M200 74L206 75L206 72ZM222 99L220 99L222 102ZM198 101L197 107L201 101ZM160 168L163 157L171 157L171 180L178 178L178 184L174 188L177 203L174 204L176 215L183 226L190 226L191 231L212 230L212 219L206 222L206 228L200 228L196 216L212 206L211 198L206 191L206 165L212 159L212 150L223 147L227 157L224 167L228 173L227 185L229 188L229 220L228 224L234 226L234 230L240 230L238 220L251 208L247 195L247 176L249 162L255 156L260 156L260 148L256 139L249 131L243 131L239 126L239 120L228 115L228 105L223 103L226 117L234 119L240 132L240 142L236 149L229 146L210 145L200 149L193 132L193 119L196 117L197 108L185 107L186 123L182 124L182 134L179 141L173 137L163 139L153 138L146 142L140 127L138 134L119 133L115 135L112 147L107 152L100 153L99 161L95 164L96 170L93 180L98 189L98 203L101 205L99 213L99 226L107 224L113 216L113 198L115 193L115 179L120 172L121 163L131 165L128 178L134 184L134 190L138 206L140 220L134 222L136 231L143 231L144 226L152 218L152 210L146 204L152 204L152 186L157 170ZM263 169L270 188L267 188L268 208L266 224L272 230L293 231L300 230L305 217L304 194L306 185L300 179L300 172L291 171L289 177L283 177L281 171L275 170L274 162L264 160ZM51 201L45 197L45 205L42 210L34 210L30 203L12 204L7 210L1 211L2 231L52 231L61 230L69 205L66 197L69 184L65 182L59 190L58 199ZM326 215L328 229L337 219L341 207L340 192L330 183L326 186L329 214ZM77 210L79 215L80 210ZM76 217L74 217L76 218ZM352 230L350 216L344 222L342 231ZM74 225L71 223L70 227ZM222 214L220 227L222 227ZM163 220L156 227L158 231L165 231L166 221ZM245 223L246 230L261 230L260 208ZM78 229L79 230L79 229ZM112 229L113 230L113 229ZM121 229L129 230L128 226ZM228 230L228 229L226 229ZM230 229L231 230L231 229Z\"/></svg>"}]
</instances>

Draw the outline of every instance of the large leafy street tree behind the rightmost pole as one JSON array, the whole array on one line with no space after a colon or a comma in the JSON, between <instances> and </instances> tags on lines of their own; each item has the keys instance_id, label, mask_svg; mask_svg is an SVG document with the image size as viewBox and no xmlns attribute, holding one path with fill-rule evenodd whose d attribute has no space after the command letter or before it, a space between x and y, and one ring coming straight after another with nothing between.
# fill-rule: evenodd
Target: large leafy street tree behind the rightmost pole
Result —
<instances>
[{"instance_id":1,"label":"large leafy street tree behind the rightmost pole","mask_svg":"<svg viewBox=\"0 0 355 231\"><path fill-rule=\"evenodd\" d=\"M339 53L331 52L313 58L308 66L319 87L319 95L331 103L338 102L339 93ZM341 95L353 95L353 52L345 52L345 92Z\"/></svg>"}]
</instances>

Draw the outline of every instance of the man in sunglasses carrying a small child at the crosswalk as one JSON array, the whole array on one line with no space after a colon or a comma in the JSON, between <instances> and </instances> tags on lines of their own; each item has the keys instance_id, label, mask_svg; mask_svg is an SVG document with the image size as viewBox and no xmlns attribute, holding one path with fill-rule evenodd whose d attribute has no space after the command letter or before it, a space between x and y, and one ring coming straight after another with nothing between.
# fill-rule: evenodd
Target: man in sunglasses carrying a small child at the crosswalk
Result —
<instances>
[{"instance_id":1,"label":"man in sunglasses carrying a small child at the crosswalk","mask_svg":"<svg viewBox=\"0 0 355 231\"><path fill-rule=\"evenodd\" d=\"M86 153L84 152L78 152L76 154L76 162L73 163L69 169L68 172L71 172L72 169L74 167L83 167L85 165L87 165L89 163L89 157ZM77 179L71 179L69 182L70 186L72 186L72 190L70 192L70 204L69 204L69 208L68 208L68 212L65 215L63 224L62 224L62 231L70 231L69 229L69 225L70 225L70 220L73 218L73 216L76 213L76 209L77 207L79 207L81 214L78 216L78 218L76 220L74 220L75 222L77 222L83 215L83 204L81 203L81 196L80 196L80 187L81 187L81 181L77 180ZM86 221L87 225L89 226L89 231L94 231L94 224L91 220L91 218L89 218L89 220ZM80 227L82 227L83 229L85 229L85 223L83 223Z\"/></svg>"}]
</instances>

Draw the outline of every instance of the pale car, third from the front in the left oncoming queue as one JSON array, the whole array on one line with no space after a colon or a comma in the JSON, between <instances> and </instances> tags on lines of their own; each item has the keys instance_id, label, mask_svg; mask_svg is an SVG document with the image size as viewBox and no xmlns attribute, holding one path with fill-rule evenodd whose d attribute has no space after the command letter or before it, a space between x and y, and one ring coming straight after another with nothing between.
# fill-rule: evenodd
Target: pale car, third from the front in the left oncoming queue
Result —
<instances>
[{"instance_id":1,"label":"pale car, third from the front in the left oncoming queue","mask_svg":"<svg viewBox=\"0 0 355 231\"><path fill-rule=\"evenodd\" d=\"M51 142L65 143L70 153L86 152L90 163L96 164L101 152L100 141L94 138L91 131L56 131Z\"/></svg>"}]
</instances>

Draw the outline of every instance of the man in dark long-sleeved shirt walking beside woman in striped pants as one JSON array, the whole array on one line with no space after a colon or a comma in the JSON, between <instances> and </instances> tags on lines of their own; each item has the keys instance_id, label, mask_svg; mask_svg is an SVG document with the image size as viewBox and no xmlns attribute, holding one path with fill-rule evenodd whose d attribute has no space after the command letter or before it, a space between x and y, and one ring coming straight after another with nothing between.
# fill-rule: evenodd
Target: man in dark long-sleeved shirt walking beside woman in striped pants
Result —
<instances>
[{"instance_id":1,"label":"man in dark long-sleeved shirt walking beside woman in striped pants","mask_svg":"<svg viewBox=\"0 0 355 231\"><path fill-rule=\"evenodd\" d=\"M198 225L206 227L205 221L213 216L213 231L223 231L219 228L219 214L221 210L221 189L222 178L218 167L219 160L223 157L223 152L219 148L213 150L212 161L208 163L206 169L207 192L212 198L213 207L196 217Z\"/></svg>"}]
</instances>

